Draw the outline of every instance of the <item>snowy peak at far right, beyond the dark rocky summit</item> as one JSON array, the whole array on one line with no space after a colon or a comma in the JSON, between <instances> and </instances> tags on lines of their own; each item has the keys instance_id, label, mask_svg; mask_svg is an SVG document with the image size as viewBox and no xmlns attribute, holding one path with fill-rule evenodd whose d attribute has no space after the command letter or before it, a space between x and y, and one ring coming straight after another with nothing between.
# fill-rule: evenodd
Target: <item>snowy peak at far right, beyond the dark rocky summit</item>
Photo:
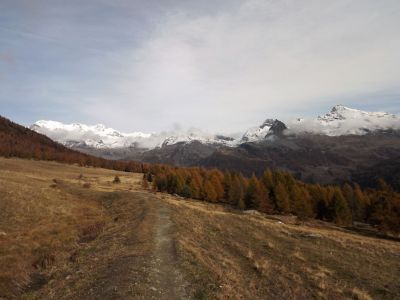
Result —
<instances>
[{"instance_id":1,"label":"snowy peak at far right, beyond the dark rocky summit","mask_svg":"<svg viewBox=\"0 0 400 300\"><path fill-rule=\"evenodd\" d=\"M386 112L366 112L343 105L316 119L288 122L289 132L314 133L328 136L364 135L377 130L399 130L400 117Z\"/></svg>"}]
</instances>

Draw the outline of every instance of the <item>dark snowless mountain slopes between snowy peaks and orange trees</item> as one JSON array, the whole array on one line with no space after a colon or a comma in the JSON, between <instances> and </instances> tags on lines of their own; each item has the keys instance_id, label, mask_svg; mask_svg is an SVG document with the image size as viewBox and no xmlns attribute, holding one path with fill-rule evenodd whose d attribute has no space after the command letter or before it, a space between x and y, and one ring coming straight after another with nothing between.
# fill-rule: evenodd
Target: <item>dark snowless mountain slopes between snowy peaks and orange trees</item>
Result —
<instances>
[{"instance_id":1,"label":"dark snowless mountain slopes between snowy peaks and orange trees","mask_svg":"<svg viewBox=\"0 0 400 300\"><path fill-rule=\"evenodd\" d=\"M354 181L360 173L381 162L400 157L399 133L325 136L297 135L273 141L244 143L238 147L215 147L200 143L175 144L143 153L137 159L177 166L215 167L261 175L266 168L292 172L311 183L337 184ZM355 174L357 173L357 176ZM366 186L376 178L363 178Z\"/></svg>"}]
</instances>

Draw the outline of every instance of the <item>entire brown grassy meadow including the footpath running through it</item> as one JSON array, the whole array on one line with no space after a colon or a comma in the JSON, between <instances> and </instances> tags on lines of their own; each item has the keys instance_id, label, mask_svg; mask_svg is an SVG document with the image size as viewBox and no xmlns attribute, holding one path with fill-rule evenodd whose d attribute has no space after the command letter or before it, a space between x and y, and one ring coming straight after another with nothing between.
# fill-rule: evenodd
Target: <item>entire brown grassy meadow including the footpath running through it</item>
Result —
<instances>
[{"instance_id":1,"label":"entire brown grassy meadow including the footpath running through it","mask_svg":"<svg viewBox=\"0 0 400 300\"><path fill-rule=\"evenodd\" d=\"M0 299L400 297L398 241L154 193L141 178L0 158Z\"/></svg>"}]
</instances>

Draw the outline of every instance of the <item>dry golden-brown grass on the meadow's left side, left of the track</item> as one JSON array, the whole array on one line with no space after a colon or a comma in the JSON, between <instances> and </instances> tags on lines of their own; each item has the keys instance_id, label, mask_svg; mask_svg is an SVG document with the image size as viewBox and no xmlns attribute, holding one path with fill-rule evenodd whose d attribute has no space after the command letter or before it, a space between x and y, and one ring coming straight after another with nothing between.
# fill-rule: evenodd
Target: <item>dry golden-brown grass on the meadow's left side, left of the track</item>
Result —
<instances>
[{"instance_id":1,"label":"dry golden-brown grass on the meadow's left side, left of the track","mask_svg":"<svg viewBox=\"0 0 400 300\"><path fill-rule=\"evenodd\" d=\"M42 272L102 232L108 216L98 191L116 174L125 177L118 189L136 184L122 172L0 158L0 298L40 288ZM80 184L86 194L70 187Z\"/></svg>"}]
</instances>

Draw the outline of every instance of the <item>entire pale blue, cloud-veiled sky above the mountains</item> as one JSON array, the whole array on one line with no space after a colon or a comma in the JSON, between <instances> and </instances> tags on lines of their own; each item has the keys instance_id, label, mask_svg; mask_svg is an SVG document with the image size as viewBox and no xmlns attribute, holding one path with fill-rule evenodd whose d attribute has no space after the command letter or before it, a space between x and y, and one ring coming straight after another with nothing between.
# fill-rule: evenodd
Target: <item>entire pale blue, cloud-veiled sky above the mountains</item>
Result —
<instances>
[{"instance_id":1,"label":"entire pale blue, cloud-veiled sky above the mountains","mask_svg":"<svg viewBox=\"0 0 400 300\"><path fill-rule=\"evenodd\" d=\"M400 2L0 0L0 114L234 132L400 112Z\"/></svg>"}]
</instances>

